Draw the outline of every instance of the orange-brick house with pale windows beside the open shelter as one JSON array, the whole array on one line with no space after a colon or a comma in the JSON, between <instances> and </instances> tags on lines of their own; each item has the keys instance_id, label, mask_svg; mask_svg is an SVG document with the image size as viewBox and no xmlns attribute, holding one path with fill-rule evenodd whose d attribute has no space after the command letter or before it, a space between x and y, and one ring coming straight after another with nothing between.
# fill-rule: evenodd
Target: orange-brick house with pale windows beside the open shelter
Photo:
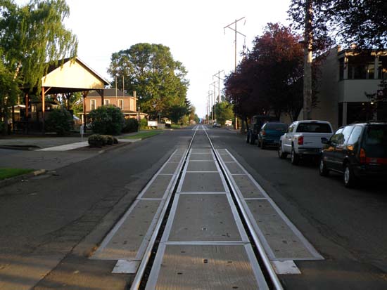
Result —
<instances>
[{"instance_id":1,"label":"orange-brick house with pale windows beside the open shelter","mask_svg":"<svg viewBox=\"0 0 387 290\"><path fill-rule=\"evenodd\" d=\"M89 114L91 110L96 109L102 105L102 96L100 91L91 91L84 98L84 107L86 114ZM124 114L125 118L136 118L139 117L144 119L146 114L139 111L137 107L136 92L133 95L120 91L115 88L103 89L103 105L113 105L119 107Z\"/></svg>"}]
</instances>

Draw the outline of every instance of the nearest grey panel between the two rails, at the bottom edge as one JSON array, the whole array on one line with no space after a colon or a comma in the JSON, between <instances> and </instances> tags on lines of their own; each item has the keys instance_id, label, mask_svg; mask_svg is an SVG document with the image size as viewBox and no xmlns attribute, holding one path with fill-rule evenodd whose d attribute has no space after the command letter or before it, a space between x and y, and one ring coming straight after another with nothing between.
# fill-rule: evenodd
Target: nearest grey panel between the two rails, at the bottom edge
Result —
<instances>
[{"instance_id":1,"label":"nearest grey panel between the two rails, at the bottom edge","mask_svg":"<svg viewBox=\"0 0 387 290\"><path fill-rule=\"evenodd\" d=\"M250 245L160 245L146 290L268 289Z\"/></svg>"}]
</instances>

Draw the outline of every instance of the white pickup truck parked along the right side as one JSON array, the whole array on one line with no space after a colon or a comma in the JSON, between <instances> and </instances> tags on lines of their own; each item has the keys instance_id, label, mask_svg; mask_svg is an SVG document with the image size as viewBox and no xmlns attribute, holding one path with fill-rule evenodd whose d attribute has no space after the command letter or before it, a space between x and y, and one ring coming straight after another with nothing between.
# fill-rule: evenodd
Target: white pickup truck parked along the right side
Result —
<instances>
[{"instance_id":1,"label":"white pickup truck parked along the right side","mask_svg":"<svg viewBox=\"0 0 387 290\"><path fill-rule=\"evenodd\" d=\"M291 164L295 165L305 156L319 157L322 140L328 140L333 133L329 121L294 121L279 139L278 156L284 159L291 154Z\"/></svg>"}]
</instances>

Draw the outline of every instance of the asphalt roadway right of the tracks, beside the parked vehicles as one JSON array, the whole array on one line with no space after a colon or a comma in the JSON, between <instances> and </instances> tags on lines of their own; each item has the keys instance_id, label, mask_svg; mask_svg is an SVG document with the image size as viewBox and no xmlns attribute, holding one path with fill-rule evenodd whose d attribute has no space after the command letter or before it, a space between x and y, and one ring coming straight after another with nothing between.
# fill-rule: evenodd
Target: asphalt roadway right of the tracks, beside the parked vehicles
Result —
<instances>
[{"instance_id":1,"label":"asphalt roadway right of the tracks, beside the parked vehicles","mask_svg":"<svg viewBox=\"0 0 387 290\"><path fill-rule=\"evenodd\" d=\"M315 162L293 166L275 149L249 145L241 134L211 128L215 147L227 148L324 256L296 261L302 275L281 275L288 289L387 289L387 190L341 176L319 176Z\"/></svg>"}]
</instances>

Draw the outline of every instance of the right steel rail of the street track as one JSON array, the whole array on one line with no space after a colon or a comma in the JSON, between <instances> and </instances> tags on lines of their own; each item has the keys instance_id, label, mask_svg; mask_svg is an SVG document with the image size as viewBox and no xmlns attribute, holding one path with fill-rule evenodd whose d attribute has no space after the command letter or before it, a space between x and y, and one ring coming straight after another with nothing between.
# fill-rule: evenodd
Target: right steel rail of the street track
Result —
<instances>
[{"instance_id":1,"label":"right steel rail of the street track","mask_svg":"<svg viewBox=\"0 0 387 290\"><path fill-rule=\"evenodd\" d=\"M270 279L272 279L272 283L273 283L275 289L276 290L284 290L284 287L282 287L281 282L279 282L277 274L272 267L272 263L270 263L269 258L267 257L267 254L265 252L265 249L263 248L262 243L260 242L260 239L259 239L258 235L256 234L256 232L253 228L253 225L250 222L250 218L248 218L248 214L246 213L246 210L244 209L244 207L242 205L241 199L239 198L238 195L236 195L236 190L234 188L234 185L231 182L229 175L226 173L227 171L224 168L223 162L221 162L222 159L220 158L219 153L215 150L215 146L212 144L212 141L210 139L210 136L208 136L207 131L204 130L204 132L205 132L205 135L207 136L208 140L210 141L212 151L214 152L214 154L217 158L217 162L220 164L220 167L222 168L224 178L226 178L227 183L229 184L230 191L232 192L232 194L234 195L234 197L236 199L236 202L238 203L239 209L243 215L243 220L246 222L246 225L248 227L248 230L250 232L251 237L253 237L255 246L257 247L258 252L260 253L262 261L265 264L265 267L267 269L267 272L269 273Z\"/></svg>"}]
</instances>

